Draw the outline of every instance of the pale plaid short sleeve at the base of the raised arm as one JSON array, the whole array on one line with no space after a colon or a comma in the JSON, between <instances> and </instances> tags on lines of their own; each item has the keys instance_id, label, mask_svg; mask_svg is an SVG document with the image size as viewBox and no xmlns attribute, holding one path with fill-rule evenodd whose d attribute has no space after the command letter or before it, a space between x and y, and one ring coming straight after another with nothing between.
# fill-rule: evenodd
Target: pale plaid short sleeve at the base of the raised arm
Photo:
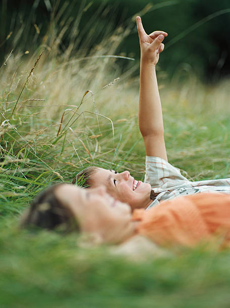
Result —
<instances>
[{"instance_id":1,"label":"pale plaid short sleeve at the base of the raised arm","mask_svg":"<svg viewBox=\"0 0 230 308\"><path fill-rule=\"evenodd\" d=\"M181 175L180 169L170 165L159 157L146 156L145 183L149 183L156 192L189 182Z\"/></svg>"}]
</instances>

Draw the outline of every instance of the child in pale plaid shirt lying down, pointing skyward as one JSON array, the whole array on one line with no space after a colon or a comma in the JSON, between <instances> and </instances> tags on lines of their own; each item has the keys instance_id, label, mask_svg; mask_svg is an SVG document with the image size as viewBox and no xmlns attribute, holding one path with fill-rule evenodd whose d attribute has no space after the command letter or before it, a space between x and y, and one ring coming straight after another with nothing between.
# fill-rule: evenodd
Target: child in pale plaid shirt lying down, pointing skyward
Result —
<instances>
[{"instance_id":1,"label":"child in pale plaid shirt lying down, pointing skyward","mask_svg":"<svg viewBox=\"0 0 230 308\"><path fill-rule=\"evenodd\" d=\"M147 35L140 17L137 17L137 29L141 48L138 117L146 150L144 183L136 181L129 171L117 173L111 169L90 166L75 177L73 184L78 183L80 179L84 186L104 185L111 196L129 203L132 209L149 209L159 201L198 192L230 193L230 179L191 182L181 175L179 169L167 162L155 70L159 53L164 49L162 41L167 33L155 31Z\"/></svg>"}]
</instances>

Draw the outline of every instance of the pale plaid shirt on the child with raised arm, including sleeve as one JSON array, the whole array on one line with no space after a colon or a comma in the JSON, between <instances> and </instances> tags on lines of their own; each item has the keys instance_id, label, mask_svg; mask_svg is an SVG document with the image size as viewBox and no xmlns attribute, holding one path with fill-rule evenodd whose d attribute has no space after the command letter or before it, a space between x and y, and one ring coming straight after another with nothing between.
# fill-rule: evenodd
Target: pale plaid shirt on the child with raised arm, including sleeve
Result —
<instances>
[{"instance_id":1,"label":"pale plaid shirt on the child with raised arm, including sleeve","mask_svg":"<svg viewBox=\"0 0 230 308\"><path fill-rule=\"evenodd\" d=\"M178 168L159 157L146 156L145 183L149 183L154 192L159 193L147 209L160 201L198 192L224 192L230 194L230 178L191 182Z\"/></svg>"}]
</instances>

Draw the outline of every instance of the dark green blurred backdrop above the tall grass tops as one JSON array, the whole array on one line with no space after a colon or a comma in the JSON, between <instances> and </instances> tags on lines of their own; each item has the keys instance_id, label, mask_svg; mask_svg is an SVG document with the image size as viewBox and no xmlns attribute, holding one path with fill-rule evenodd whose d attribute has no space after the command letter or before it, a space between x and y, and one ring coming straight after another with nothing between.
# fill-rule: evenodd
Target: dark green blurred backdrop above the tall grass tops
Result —
<instances>
[{"instance_id":1,"label":"dark green blurred backdrop above the tall grass tops","mask_svg":"<svg viewBox=\"0 0 230 308\"><path fill-rule=\"evenodd\" d=\"M160 66L169 79L178 69L199 75L203 81L212 83L229 74L229 0L2 0L1 62L13 48L35 50L51 26L50 20L55 19L61 31L63 15L69 30L62 37L63 50L60 52L68 48L73 31L79 33L72 50L74 55L92 28L96 31L88 42L89 50L120 26L121 31L125 32L127 28L131 31L118 46L117 54L138 59L137 30L132 19L137 13L142 16L147 33L156 29L168 32ZM58 27L56 29L59 35ZM130 63L121 61L121 65L127 69Z\"/></svg>"}]
</instances>

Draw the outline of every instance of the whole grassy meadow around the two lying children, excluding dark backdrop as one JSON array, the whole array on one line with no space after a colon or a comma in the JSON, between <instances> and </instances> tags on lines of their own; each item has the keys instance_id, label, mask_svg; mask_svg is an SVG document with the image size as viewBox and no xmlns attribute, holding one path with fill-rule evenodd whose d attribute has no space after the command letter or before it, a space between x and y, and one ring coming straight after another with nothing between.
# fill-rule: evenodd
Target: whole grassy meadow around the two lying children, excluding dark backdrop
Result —
<instances>
[{"instance_id":1,"label":"whole grassy meadow around the two lying children, excluding dark backdrop","mask_svg":"<svg viewBox=\"0 0 230 308\"><path fill-rule=\"evenodd\" d=\"M81 245L79 235L19 229L39 191L88 165L144 178L139 59L106 56L132 29L90 52L86 40L74 55L71 43L60 52L67 29L50 29L39 48L13 50L0 68L1 307L228 307L229 251L136 261ZM169 162L191 180L230 177L229 80L205 85L183 63L169 81L159 62L157 76Z\"/></svg>"}]
</instances>

